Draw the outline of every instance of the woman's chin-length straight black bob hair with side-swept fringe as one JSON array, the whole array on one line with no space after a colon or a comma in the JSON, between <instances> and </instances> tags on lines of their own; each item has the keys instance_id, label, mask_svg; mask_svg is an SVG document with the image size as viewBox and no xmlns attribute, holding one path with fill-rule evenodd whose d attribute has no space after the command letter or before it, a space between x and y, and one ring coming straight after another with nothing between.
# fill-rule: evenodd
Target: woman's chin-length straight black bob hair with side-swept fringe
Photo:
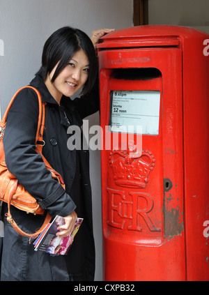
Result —
<instances>
[{"instance_id":1,"label":"woman's chin-length straight black bob hair with side-swept fringe","mask_svg":"<svg viewBox=\"0 0 209 295\"><path fill-rule=\"evenodd\" d=\"M53 83L56 77L61 73L63 68L67 66L72 56L83 50L89 61L88 80L84 84L82 94L88 93L93 87L97 75L97 62L95 49L91 39L79 29L71 27L63 27L58 29L47 39L42 51L42 66L36 75L40 75L43 80L47 79L47 75L52 72L53 68L58 66L52 77Z\"/></svg>"}]
</instances>

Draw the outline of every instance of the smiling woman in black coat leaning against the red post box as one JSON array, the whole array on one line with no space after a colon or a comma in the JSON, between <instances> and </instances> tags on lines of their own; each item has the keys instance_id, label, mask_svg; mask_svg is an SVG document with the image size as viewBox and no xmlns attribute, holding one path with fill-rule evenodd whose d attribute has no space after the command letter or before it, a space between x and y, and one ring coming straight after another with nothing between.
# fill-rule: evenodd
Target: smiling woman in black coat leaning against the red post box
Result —
<instances>
[{"instance_id":1,"label":"smiling woman in black coat leaning against the red post box","mask_svg":"<svg viewBox=\"0 0 209 295\"><path fill-rule=\"evenodd\" d=\"M15 98L8 113L3 145L6 164L12 174L36 197L42 209L52 218L61 215L65 225L60 236L66 236L78 217L84 218L67 256L34 251L29 238L20 236L6 221L4 203L1 218L4 237L1 241L1 280L93 280L95 250L93 241L91 185L88 151L70 150L69 126L82 127L82 119L99 109L95 47L109 29L93 31L91 39L79 29L63 27L45 43L42 66L31 81L46 103L42 153L61 174L65 190L52 179L34 140L38 122L38 99L32 89L24 89ZM81 98L71 100L82 89ZM26 214L12 206L14 220L26 232L35 232L45 215Z\"/></svg>"}]
</instances>

